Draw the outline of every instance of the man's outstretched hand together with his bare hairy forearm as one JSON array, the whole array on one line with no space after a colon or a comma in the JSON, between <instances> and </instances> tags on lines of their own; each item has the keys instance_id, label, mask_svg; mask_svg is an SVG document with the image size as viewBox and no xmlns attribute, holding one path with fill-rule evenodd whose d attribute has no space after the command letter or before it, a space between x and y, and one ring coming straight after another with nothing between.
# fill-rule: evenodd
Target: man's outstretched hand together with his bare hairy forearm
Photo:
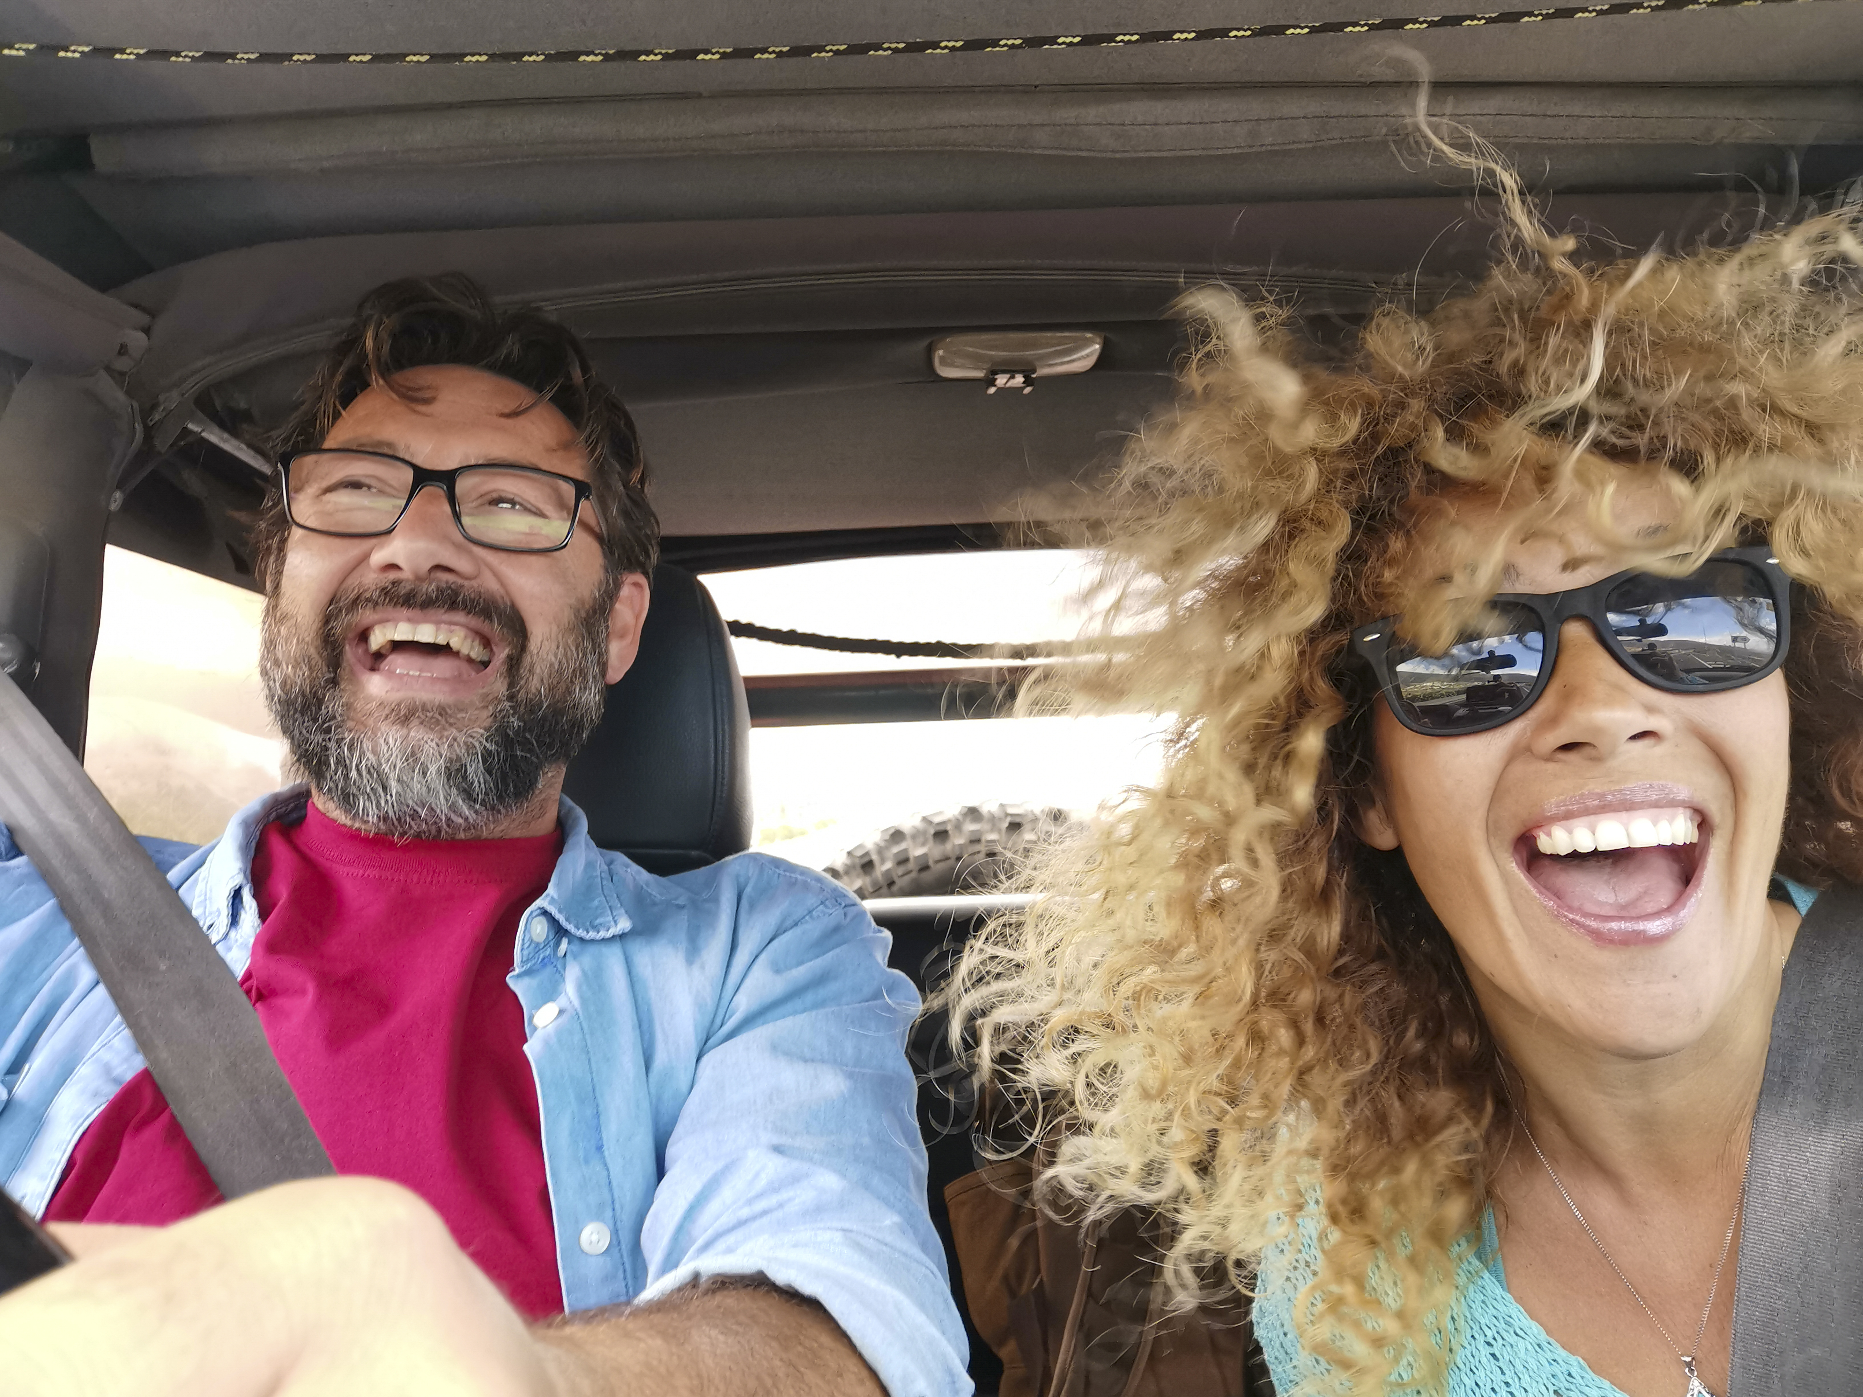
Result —
<instances>
[{"instance_id":1,"label":"man's outstretched hand together with his bare hairy forearm","mask_svg":"<svg viewBox=\"0 0 1863 1397\"><path fill-rule=\"evenodd\" d=\"M529 1330L374 1179L58 1233L80 1259L0 1300L0 1397L883 1397L822 1306L760 1283Z\"/></svg>"}]
</instances>

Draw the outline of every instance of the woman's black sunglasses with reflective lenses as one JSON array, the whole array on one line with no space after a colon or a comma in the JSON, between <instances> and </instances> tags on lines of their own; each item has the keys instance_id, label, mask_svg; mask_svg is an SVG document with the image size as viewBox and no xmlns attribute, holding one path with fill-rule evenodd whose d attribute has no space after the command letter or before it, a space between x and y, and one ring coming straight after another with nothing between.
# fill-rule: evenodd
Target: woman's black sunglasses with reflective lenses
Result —
<instances>
[{"instance_id":1,"label":"woman's black sunglasses with reflective lenses","mask_svg":"<svg viewBox=\"0 0 1863 1397\"><path fill-rule=\"evenodd\" d=\"M1353 631L1392 713L1461 736L1520 717L1559 658L1559 626L1591 622L1619 665L1669 693L1720 693L1772 674L1790 641L1790 579L1770 548L1716 553L1686 577L1619 572L1567 592L1502 592L1475 635L1440 656L1397 637L1397 617Z\"/></svg>"}]
</instances>

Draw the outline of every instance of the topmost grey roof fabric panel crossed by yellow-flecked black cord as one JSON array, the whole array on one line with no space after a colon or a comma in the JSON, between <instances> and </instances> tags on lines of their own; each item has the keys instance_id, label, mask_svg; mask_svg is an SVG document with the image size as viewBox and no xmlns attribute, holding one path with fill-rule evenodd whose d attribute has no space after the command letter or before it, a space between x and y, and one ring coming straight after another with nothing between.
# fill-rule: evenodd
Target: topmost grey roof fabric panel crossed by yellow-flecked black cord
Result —
<instances>
[{"instance_id":1,"label":"topmost grey roof fabric panel crossed by yellow-flecked black cord","mask_svg":"<svg viewBox=\"0 0 1863 1397\"><path fill-rule=\"evenodd\" d=\"M1233 24L1233 0L1148 6L1187 28ZM1408 6L1362 0L1252 0L1246 19L1358 19ZM1118 30L1131 0L1028 0L1012 32ZM1168 17L1168 19L1166 19ZM1856 80L1856 15L1844 4L1766 6L1567 24L1416 34L1438 82L1816 84ZM613 6L378 6L369 0L0 0L0 34L41 43L138 43L175 48L576 48L879 41L904 34L1004 32L1004 11L984 0L768 0L755 11L725 0L643 0ZM796 63L522 63L505 67L209 69L186 63L7 61L0 130L99 130L151 121L252 117L307 110L363 110L550 101L648 91L797 91L827 88L982 88L1054 84L1405 80L1388 63L1386 35L1310 35L1244 45L1038 50ZM1660 54L1660 71L1652 71ZM883 71L881 71L883 69Z\"/></svg>"}]
</instances>

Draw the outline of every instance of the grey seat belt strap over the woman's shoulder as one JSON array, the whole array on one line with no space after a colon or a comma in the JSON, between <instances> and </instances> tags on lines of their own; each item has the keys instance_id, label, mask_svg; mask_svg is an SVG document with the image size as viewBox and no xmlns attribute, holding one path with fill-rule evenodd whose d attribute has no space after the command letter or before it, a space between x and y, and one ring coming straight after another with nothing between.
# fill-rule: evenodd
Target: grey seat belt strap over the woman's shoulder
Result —
<instances>
[{"instance_id":1,"label":"grey seat belt strap over the woman's shoulder","mask_svg":"<svg viewBox=\"0 0 1863 1397\"><path fill-rule=\"evenodd\" d=\"M1863 892L1805 913L1753 1114L1731 1397L1863 1391Z\"/></svg>"}]
</instances>

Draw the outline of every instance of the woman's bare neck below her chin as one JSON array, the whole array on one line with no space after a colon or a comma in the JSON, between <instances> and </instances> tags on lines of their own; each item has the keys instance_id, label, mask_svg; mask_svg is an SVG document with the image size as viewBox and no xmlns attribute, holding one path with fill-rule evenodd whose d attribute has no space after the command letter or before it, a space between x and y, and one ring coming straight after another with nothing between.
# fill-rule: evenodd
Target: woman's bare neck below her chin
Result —
<instances>
[{"instance_id":1,"label":"woman's bare neck below her chin","mask_svg":"<svg viewBox=\"0 0 1863 1397\"><path fill-rule=\"evenodd\" d=\"M1666 1056L1626 1058L1572 1041L1477 982L1483 1015L1513 1067L1515 1106L1561 1173L1593 1175L1634 1196L1740 1168L1783 956L1798 929L1790 907L1768 903L1768 911L1775 935L1762 939L1768 952L1740 993L1707 1032Z\"/></svg>"}]
</instances>

